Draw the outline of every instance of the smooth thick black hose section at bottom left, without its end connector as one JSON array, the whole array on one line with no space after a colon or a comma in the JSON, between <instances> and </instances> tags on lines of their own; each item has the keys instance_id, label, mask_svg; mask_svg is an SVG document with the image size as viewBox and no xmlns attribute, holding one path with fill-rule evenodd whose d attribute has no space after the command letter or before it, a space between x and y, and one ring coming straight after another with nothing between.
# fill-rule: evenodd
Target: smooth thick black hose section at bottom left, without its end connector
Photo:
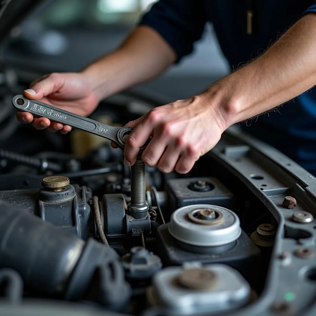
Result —
<instances>
[{"instance_id":1,"label":"smooth thick black hose section at bottom left, without its end connector","mask_svg":"<svg viewBox=\"0 0 316 316\"><path fill-rule=\"evenodd\" d=\"M63 291L84 241L0 200L0 268L17 271L26 287Z\"/></svg>"}]
</instances>

